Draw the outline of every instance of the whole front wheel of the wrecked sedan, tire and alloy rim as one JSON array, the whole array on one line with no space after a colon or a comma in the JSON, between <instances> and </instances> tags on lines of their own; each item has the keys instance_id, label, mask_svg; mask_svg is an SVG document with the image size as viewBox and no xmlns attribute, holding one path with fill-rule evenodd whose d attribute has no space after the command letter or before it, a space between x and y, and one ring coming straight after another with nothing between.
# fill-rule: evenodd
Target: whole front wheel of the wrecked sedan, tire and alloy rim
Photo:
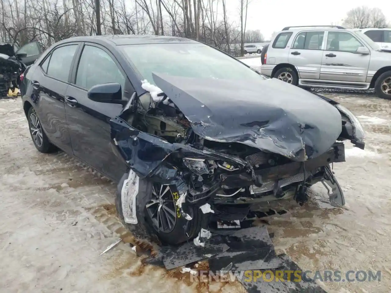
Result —
<instances>
[{"instance_id":1,"label":"whole front wheel of the wrecked sedan, tire and alloy rim","mask_svg":"<svg viewBox=\"0 0 391 293\"><path fill-rule=\"evenodd\" d=\"M135 202L137 224L126 223L120 191L123 182L118 184L115 198L117 212L122 223L135 234L136 238L151 239L151 235L148 234L152 232L161 242L176 245L198 235L206 219L201 209L195 205L183 203L183 211L191 217L191 220L187 220L176 204L179 199L176 186L153 183L147 179L138 178L138 193Z\"/></svg>"}]
</instances>

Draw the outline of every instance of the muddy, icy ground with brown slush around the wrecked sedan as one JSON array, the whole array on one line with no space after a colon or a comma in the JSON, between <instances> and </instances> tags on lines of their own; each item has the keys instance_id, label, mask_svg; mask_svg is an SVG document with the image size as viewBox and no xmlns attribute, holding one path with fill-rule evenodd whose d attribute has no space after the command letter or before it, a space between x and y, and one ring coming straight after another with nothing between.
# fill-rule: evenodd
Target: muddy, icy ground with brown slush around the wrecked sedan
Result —
<instances>
[{"instance_id":1,"label":"muddy, icy ground with brown slush around the wrecked sedan","mask_svg":"<svg viewBox=\"0 0 391 293\"><path fill-rule=\"evenodd\" d=\"M391 291L391 101L328 95L355 113L366 150L346 143L334 165L346 206L332 208L322 185L303 207L282 202L271 216L277 252L304 270L381 270L380 282L326 282L330 292ZM20 98L0 100L0 292L244 292L237 282L191 283L179 270L142 264L115 215L115 184L63 152L40 154ZM98 256L119 237L113 250ZM207 264L200 264L207 268Z\"/></svg>"}]
</instances>

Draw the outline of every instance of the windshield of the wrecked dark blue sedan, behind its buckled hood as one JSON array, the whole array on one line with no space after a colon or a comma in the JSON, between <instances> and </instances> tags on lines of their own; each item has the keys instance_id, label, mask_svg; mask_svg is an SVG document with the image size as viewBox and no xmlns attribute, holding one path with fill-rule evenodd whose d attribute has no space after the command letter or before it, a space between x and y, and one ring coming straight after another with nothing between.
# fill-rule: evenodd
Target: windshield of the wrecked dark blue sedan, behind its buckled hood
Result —
<instances>
[{"instance_id":1,"label":"windshield of the wrecked dark blue sedan, behind its buckled hood","mask_svg":"<svg viewBox=\"0 0 391 293\"><path fill-rule=\"evenodd\" d=\"M152 72L212 79L266 79L237 59L202 43L160 43L121 47L143 79L151 83Z\"/></svg>"}]
</instances>

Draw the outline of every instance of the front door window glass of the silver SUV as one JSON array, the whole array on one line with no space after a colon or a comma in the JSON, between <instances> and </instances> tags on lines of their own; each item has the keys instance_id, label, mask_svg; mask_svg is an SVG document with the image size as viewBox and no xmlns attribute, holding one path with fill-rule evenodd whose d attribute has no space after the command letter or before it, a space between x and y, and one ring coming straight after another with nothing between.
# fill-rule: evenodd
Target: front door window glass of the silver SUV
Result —
<instances>
[{"instance_id":1,"label":"front door window glass of the silver SUV","mask_svg":"<svg viewBox=\"0 0 391 293\"><path fill-rule=\"evenodd\" d=\"M348 32L328 32L328 51L356 52L361 46L360 41Z\"/></svg>"}]
</instances>

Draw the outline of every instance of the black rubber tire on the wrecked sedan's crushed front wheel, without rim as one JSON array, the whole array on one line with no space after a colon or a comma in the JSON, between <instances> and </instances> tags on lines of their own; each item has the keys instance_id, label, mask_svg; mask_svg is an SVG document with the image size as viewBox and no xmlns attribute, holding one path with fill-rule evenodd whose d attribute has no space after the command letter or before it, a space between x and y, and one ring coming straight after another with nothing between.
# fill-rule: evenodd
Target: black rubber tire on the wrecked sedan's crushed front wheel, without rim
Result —
<instances>
[{"instance_id":1,"label":"black rubber tire on the wrecked sedan's crushed front wheel, without rim","mask_svg":"<svg viewBox=\"0 0 391 293\"><path fill-rule=\"evenodd\" d=\"M128 174L124 175L123 178L127 179L127 176ZM186 213L188 213L190 216L192 216L192 220L188 221L185 218L183 218L183 216L181 216L179 212L178 213L175 212L174 213L175 222L172 225L171 229L167 231L163 231L162 229L159 229L159 227L156 226L156 221L151 218L151 213L150 213L151 210L154 208L154 205L151 205L151 207L149 207L150 210L147 209L147 205L151 203L151 200L154 197L153 192L155 191L155 189L157 189L156 186L158 186L158 184L150 182L147 179L139 178L139 189L138 189L138 194L136 196L136 216L137 216L138 223L135 225L126 223L122 211L122 198L121 198L121 189L122 189L123 182L124 180L121 179L120 184L118 184L118 188L115 196L115 205L117 208L117 213L122 220L122 223L124 224L126 229L128 229L130 232L132 232L135 235L136 238L154 240L154 235L156 235L163 244L177 245L198 236L198 233L201 230L201 225L203 224L203 220L206 217L202 213L201 209L199 207L196 207L195 205L188 205L186 203L182 205L183 210ZM169 188L169 190L166 191L164 196L166 196L167 200L171 197L172 199L171 207L176 208L174 201L176 201L176 199L178 198L179 195L178 190L176 189L175 185L170 185L170 186L164 185L163 189L161 189L162 192L164 192L166 188ZM156 203L155 207L157 206L160 206L160 204ZM165 211L164 208L162 208L161 210ZM187 229L185 230L184 227L186 226Z\"/></svg>"}]
</instances>

